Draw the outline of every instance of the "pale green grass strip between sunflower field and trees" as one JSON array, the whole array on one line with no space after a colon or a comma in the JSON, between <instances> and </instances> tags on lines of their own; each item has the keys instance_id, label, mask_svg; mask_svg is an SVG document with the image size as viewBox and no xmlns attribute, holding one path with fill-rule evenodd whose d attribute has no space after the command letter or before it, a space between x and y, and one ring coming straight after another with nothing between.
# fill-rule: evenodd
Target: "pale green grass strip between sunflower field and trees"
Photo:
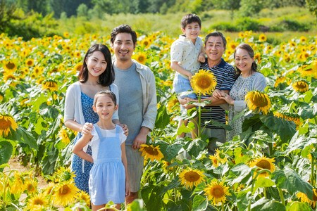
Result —
<instances>
[{"instance_id":1,"label":"pale green grass strip between sunflower field and trees","mask_svg":"<svg viewBox=\"0 0 317 211\"><path fill-rule=\"evenodd\" d=\"M181 34L180 20L184 13L170 13L166 15L162 14L117 14L117 15L104 15L104 18L92 18L92 20L86 20L85 18L67 18L59 21L58 31L70 32L70 34L110 34L113 27L121 24L128 24L132 26L132 29L141 32L142 34L149 34L151 32L162 31L171 37L178 37ZM236 12L231 11L208 11L199 14L201 17L201 36L204 37L211 29L211 25L221 22L235 22L237 18ZM289 7L278 9L263 9L254 18L259 20L263 25L273 25L280 20L292 19L301 23L307 23L312 26L309 32L267 32L268 38L280 39L292 39L293 37L315 36L317 32L316 18L309 13L306 8ZM226 36L232 38L237 37L238 32L224 32ZM261 33L261 32L259 32Z\"/></svg>"}]
</instances>

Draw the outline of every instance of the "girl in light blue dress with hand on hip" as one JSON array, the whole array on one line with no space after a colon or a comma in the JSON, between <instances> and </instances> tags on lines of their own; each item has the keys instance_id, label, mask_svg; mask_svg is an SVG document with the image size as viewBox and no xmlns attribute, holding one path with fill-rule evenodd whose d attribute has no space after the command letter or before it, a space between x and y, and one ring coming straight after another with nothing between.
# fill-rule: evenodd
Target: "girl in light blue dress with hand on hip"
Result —
<instances>
[{"instance_id":1,"label":"girl in light blue dress with hand on hip","mask_svg":"<svg viewBox=\"0 0 317 211\"><path fill-rule=\"evenodd\" d=\"M110 200L120 209L125 196L130 195L125 136L123 129L112 122L118 109L116 95L111 91L99 91L94 96L94 112L99 116L91 134L84 134L73 147L73 153L94 163L89 172L89 195L92 210L103 208ZM82 150L87 143L92 155Z\"/></svg>"}]
</instances>

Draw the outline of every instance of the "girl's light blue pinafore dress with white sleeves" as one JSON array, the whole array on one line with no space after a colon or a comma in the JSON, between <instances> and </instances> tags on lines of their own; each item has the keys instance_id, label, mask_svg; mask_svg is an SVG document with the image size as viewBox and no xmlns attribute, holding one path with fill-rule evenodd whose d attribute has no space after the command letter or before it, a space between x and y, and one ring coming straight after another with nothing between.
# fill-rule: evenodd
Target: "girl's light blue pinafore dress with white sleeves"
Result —
<instances>
[{"instance_id":1,"label":"girl's light blue pinafore dress with white sleeves","mask_svg":"<svg viewBox=\"0 0 317 211\"><path fill-rule=\"evenodd\" d=\"M94 124L92 158L94 165L89 173L89 196L94 205L125 202L125 167L121 159L121 143L126 139L123 129L116 125L114 136ZM106 136L104 136L106 134Z\"/></svg>"}]
</instances>

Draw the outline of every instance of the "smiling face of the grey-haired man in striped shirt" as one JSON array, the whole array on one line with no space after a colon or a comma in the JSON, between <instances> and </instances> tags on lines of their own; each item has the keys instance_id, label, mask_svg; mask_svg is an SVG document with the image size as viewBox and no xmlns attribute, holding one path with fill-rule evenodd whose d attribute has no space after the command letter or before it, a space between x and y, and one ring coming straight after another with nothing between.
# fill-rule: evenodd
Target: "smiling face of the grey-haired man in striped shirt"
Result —
<instances>
[{"instance_id":1,"label":"smiling face of the grey-haired man in striped shirt","mask_svg":"<svg viewBox=\"0 0 317 211\"><path fill-rule=\"evenodd\" d=\"M225 53L225 46L221 37L209 37L205 44L205 50L208 60L212 63L218 63Z\"/></svg>"}]
</instances>

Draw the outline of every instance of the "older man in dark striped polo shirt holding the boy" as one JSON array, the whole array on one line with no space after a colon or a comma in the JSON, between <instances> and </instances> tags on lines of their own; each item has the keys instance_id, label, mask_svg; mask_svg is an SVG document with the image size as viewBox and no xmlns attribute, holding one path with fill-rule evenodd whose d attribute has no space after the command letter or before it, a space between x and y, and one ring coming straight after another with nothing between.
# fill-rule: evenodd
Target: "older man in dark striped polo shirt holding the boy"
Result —
<instances>
[{"instance_id":1,"label":"older man in dark striped polo shirt holding the boy","mask_svg":"<svg viewBox=\"0 0 317 211\"><path fill-rule=\"evenodd\" d=\"M201 63L200 68L211 70L216 77L217 85L212 96L201 96L204 101L211 101L209 105L204 107L204 110L206 111L201 114L201 127L205 127L204 122L210 119L225 124L225 110L219 106L220 104L225 103L225 101L220 99L220 91L225 91L225 93L229 94L232 85L235 83L235 68L229 63L226 63L222 58L223 53L225 53L226 44L227 41L225 36L221 32L211 32L205 38L207 58L204 63ZM185 101L182 101L181 103L185 104ZM185 105L184 107L190 109L194 106ZM216 140L211 140L209 142L208 151L211 154L215 153L216 141L225 143L225 129L223 127L206 124L203 134L206 134L209 138L216 138Z\"/></svg>"}]
</instances>

